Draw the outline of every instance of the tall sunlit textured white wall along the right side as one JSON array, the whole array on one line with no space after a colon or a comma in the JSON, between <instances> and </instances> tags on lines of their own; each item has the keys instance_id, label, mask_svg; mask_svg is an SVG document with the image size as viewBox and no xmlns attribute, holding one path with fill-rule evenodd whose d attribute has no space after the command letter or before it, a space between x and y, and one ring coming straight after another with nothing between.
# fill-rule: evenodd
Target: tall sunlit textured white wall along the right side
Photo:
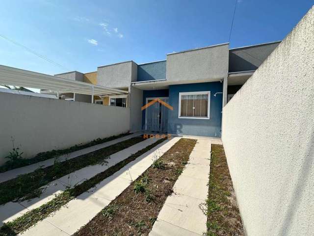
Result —
<instances>
[{"instance_id":1,"label":"tall sunlit textured white wall along the right side","mask_svg":"<svg viewBox=\"0 0 314 236\"><path fill-rule=\"evenodd\" d=\"M313 236L313 7L223 113L223 144L247 236Z\"/></svg>"}]
</instances>

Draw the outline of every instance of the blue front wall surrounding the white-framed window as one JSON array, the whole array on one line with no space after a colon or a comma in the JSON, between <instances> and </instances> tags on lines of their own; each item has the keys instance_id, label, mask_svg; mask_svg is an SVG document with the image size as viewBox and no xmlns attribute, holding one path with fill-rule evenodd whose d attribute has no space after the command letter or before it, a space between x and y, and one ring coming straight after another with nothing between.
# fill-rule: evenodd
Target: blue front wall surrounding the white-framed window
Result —
<instances>
[{"instance_id":1,"label":"blue front wall surrounding the white-framed window","mask_svg":"<svg viewBox=\"0 0 314 236\"><path fill-rule=\"evenodd\" d=\"M168 113L168 133L221 137L222 94L213 95L222 92L222 89L220 82L169 86L169 104L173 106L173 111ZM178 118L179 92L197 91L210 91L209 119Z\"/></svg>"}]
</instances>

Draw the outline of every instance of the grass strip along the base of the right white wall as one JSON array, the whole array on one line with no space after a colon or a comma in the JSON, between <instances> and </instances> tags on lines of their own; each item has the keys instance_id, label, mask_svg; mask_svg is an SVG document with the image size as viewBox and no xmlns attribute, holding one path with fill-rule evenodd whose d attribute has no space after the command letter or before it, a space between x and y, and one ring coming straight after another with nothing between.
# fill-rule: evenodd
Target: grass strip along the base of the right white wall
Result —
<instances>
[{"instance_id":1,"label":"grass strip along the base of the right white wall","mask_svg":"<svg viewBox=\"0 0 314 236\"><path fill-rule=\"evenodd\" d=\"M222 145L211 145L209 195L206 204L200 207L207 215L205 236L244 236Z\"/></svg>"}]
</instances>

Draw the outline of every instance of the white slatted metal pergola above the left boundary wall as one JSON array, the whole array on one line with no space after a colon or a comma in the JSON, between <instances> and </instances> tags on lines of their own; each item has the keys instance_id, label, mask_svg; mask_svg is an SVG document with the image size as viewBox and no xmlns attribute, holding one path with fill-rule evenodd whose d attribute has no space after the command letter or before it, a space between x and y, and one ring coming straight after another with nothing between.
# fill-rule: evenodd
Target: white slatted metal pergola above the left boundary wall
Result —
<instances>
[{"instance_id":1,"label":"white slatted metal pergola above the left boundary wall","mask_svg":"<svg viewBox=\"0 0 314 236\"><path fill-rule=\"evenodd\" d=\"M91 95L92 103L94 103L94 95L127 95L129 93L128 91L121 89L111 89L104 86L64 79L5 65L0 65L0 84L34 89L47 89L49 91L45 91L45 93L55 92L57 96L59 96L59 93L72 92Z\"/></svg>"}]
</instances>

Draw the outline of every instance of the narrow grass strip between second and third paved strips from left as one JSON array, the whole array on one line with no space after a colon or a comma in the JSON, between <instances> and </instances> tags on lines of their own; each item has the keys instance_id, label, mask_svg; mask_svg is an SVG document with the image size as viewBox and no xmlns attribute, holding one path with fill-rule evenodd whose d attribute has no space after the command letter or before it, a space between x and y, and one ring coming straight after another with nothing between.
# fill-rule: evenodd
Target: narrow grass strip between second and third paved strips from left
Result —
<instances>
[{"instance_id":1,"label":"narrow grass strip between second and third paved strips from left","mask_svg":"<svg viewBox=\"0 0 314 236\"><path fill-rule=\"evenodd\" d=\"M24 215L16 218L13 221L10 221L6 224L4 224L0 228L0 236L15 236L29 227L35 225L37 222L45 219L47 216L49 216L54 211L60 209L62 206L65 206L68 202L70 202L72 199L76 198L78 195L86 192L90 188L93 188L96 186L96 184L103 181L105 178L111 176L115 172L119 171L121 168L123 168L125 165L130 163L131 161L135 160L140 155L144 154L145 152L149 151L150 149L156 147L158 144L165 141L165 139L160 139L157 142L147 146L146 148L143 148L136 153L129 156L127 159L118 162L116 165L109 167L104 172L101 172L97 174L96 176L85 180L81 184L75 186L72 189L68 189L64 191L63 193L58 194L55 198L53 198L50 202L32 209L28 212L26 212Z\"/></svg>"}]
</instances>

